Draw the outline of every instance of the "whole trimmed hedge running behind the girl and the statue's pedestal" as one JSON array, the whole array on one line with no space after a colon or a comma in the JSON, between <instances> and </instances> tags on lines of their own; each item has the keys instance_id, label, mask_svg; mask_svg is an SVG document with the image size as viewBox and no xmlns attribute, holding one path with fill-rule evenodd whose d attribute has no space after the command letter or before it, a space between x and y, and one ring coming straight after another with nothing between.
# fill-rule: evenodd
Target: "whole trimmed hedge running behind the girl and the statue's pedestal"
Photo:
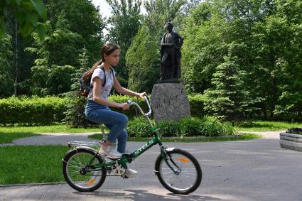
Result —
<instances>
[{"instance_id":1,"label":"whole trimmed hedge running behind the girl and the statue's pedestal","mask_svg":"<svg viewBox=\"0 0 302 201\"><path fill-rule=\"evenodd\" d=\"M126 97L112 95L109 100L113 102L123 103L128 99L137 102L144 112L147 112L148 107L143 99L136 97ZM202 94L192 94L188 96L191 107L192 116L203 116ZM29 125L50 125L62 122L65 119L69 99L61 97L10 97L0 99L0 125L9 124L29 124ZM129 119L136 116L136 109L132 107L128 111L123 111ZM117 112L122 112L120 109L112 109ZM140 115L137 109L137 114Z\"/></svg>"}]
</instances>

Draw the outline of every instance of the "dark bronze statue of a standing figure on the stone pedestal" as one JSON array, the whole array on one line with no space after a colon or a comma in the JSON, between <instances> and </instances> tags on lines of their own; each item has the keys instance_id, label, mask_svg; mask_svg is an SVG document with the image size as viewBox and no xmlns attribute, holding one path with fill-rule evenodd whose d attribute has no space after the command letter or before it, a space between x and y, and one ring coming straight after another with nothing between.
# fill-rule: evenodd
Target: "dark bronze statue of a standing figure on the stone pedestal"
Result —
<instances>
[{"instance_id":1,"label":"dark bronze statue of a standing figure on the stone pedestal","mask_svg":"<svg viewBox=\"0 0 302 201\"><path fill-rule=\"evenodd\" d=\"M178 82L183 37L173 31L171 21L167 23L166 28L168 31L161 39L161 78L158 82Z\"/></svg>"}]
</instances>

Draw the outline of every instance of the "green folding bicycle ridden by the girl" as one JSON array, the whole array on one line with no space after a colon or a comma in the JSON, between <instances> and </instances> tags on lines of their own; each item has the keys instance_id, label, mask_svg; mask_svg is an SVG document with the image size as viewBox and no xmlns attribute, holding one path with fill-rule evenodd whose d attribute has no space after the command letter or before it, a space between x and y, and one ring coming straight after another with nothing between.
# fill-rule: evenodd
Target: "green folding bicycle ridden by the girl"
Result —
<instances>
[{"instance_id":1,"label":"green folding bicycle ridden by the girl","mask_svg":"<svg viewBox=\"0 0 302 201\"><path fill-rule=\"evenodd\" d=\"M161 148L161 153L156 159L154 172L163 187L176 194L189 194L199 187L202 180L202 170L198 161L187 151L163 146L157 130L152 126L149 119L151 107L147 97L145 97L145 101L149 107L149 112L146 114L139 107L139 104L131 102L131 100L128 101L130 106L135 105L141 114L146 116L153 134L150 141L133 153L123 154L122 158L111 160L100 156L97 153L97 148L95 148L102 145L104 141L98 143L72 141L69 143L69 146L73 149L70 149L63 158L63 175L72 188L80 192L89 192L101 187L107 175L126 178L126 175L124 175L127 168L126 164L131 163L141 153L157 143ZM102 125L99 126L102 134L105 135Z\"/></svg>"}]
</instances>

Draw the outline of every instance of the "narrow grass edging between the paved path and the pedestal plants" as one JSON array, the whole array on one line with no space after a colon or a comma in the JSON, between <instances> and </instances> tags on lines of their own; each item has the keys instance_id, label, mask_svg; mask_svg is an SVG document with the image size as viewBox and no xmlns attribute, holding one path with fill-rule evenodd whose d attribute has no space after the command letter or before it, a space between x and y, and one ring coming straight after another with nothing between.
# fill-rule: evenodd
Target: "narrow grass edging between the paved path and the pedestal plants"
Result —
<instances>
[{"instance_id":1,"label":"narrow grass edging between the paved path and the pedestal plants","mask_svg":"<svg viewBox=\"0 0 302 201\"><path fill-rule=\"evenodd\" d=\"M102 136L99 134L94 134L88 136L92 139L102 139ZM162 142L211 142L211 141L239 141L239 140L251 140L255 138L261 138L260 135L256 134L240 134L236 136L218 136L218 137L205 137L205 136L196 136L196 137L185 137L185 138L161 138ZM141 138L141 137L129 137L128 141L149 141L151 138Z\"/></svg>"}]
</instances>

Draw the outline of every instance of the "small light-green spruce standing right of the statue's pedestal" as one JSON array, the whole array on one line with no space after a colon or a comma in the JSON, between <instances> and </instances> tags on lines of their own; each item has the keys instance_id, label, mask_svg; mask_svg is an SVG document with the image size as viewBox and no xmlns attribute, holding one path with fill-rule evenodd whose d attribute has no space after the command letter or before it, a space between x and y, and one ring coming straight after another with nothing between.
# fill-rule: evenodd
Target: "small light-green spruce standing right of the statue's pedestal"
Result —
<instances>
[{"instance_id":1,"label":"small light-green spruce standing right of the statue's pedestal","mask_svg":"<svg viewBox=\"0 0 302 201\"><path fill-rule=\"evenodd\" d=\"M240 70L237 56L232 56L232 49L240 44L232 43L225 62L217 66L212 77L212 88L205 90L205 110L219 119L238 121L247 118L254 103L249 92L244 89L244 70ZM242 45L242 44L241 44Z\"/></svg>"}]
</instances>

